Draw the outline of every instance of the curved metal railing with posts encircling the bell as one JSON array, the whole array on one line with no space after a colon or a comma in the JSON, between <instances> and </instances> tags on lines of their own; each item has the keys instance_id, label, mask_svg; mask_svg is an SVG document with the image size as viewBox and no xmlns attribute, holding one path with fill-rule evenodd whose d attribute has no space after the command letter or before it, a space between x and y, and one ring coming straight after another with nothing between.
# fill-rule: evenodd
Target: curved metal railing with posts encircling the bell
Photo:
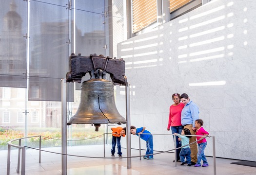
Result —
<instances>
[{"instance_id":1,"label":"curved metal railing with posts encircling the bell","mask_svg":"<svg viewBox=\"0 0 256 175\"><path fill-rule=\"evenodd\" d=\"M106 136L108 136L109 134L112 135L112 133L104 133L103 135L103 150L104 150L104 157L89 157L89 158L119 158L119 157L105 157L105 145L106 145ZM102 135L93 137L93 138L88 138L88 139L83 139L83 140L89 140L89 139L94 139L97 137L100 137ZM146 134L145 134L146 135ZM177 135L174 134L148 134L148 135L168 135L168 136L175 136L177 137ZM184 135L186 136L186 135ZM190 136L196 136L196 135L190 135ZM29 147L29 146L21 146L21 140L22 139L28 139L28 138L33 138L33 137L39 137L39 149L38 148L33 148L33 147ZM41 138L44 136L31 136L31 137L24 137L24 138L20 138L20 139L15 139L15 140L10 140L8 142L8 154L7 154L7 175L10 175L10 162L11 162L11 147L15 147L19 149L18 152L18 167L17 167L17 173L20 173L20 153L21 153L21 175L25 175L25 163L26 163L26 148L31 148L31 149L35 149L39 151L39 163L41 162L41 151L44 152L49 152L49 153L53 153L53 154L60 154L60 155L65 155L65 156L75 156L75 157L87 157L87 156L77 156L77 155L68 155L68 154L61 154L61 153L55 153L55 152L50 152L50 151L45 151L45 150L41 150ZM216 150L215 150L215 136L207 136L209 138L213 139L213 163L214 163L214 175L216 175ZM44 138L48 138L48 139L53 139L53 138L49 138L49 137L44 137ZM12 142L19 140L19 145L13 144ZM60 140L60 139L53 139L53 140ZM68 141L79 141L79 140L68 140ZM198 140L197 140L198 141ZM195 142L197 142L195 141ZM193 144L195 142L192 142L190 144ZM130 157L122 157L122 158L132 158L132 157L139 157L139 159L141 160L141 157L146 156L146 155L141 155L141 144L140 144L140 135L138 135L138 143L139 143L139 156L130 156ZM188 144L188 145L190 145ZM184 146L178 147L176 148L176 138L174 139L174 149L171 150L167 150L167 151L161 151L159 153L154 153L152 155L157 155L157 154L162 154L162 153L167 153L170 151L174 151L175 152L175 166L177 166L177 159L176 159L176 155L177 155L177 149L182 148Z\"/></svg>"}]
</instances>

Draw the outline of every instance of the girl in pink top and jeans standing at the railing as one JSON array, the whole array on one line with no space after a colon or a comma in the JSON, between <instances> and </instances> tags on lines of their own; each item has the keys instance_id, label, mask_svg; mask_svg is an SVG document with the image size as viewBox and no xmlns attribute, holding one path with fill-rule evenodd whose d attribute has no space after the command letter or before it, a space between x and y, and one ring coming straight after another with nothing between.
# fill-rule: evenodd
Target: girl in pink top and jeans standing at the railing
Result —
<instances>
[{"instance_id":1,"label":"girl in pink top and jeans standing at the railing","mask_svg":"<svg viewBox=\"0 0 256 175\"><path fill-rule=\"evenodd\" d=\"M195 167L199 167L201 166L201 160L203 160L203 165L202 167L207 167L209 166L207 159L204 155L204 149L207 145L207 141L205 139L204 136L208 136L209 133L207 131L204 130L204 128L202 127L203 125L203 121L201 119L197 119L195 121L195 127L197 128L196 131L196 135L197 135L197 144L198 144L198 152L197 152L197 164L195 165ZM200 140L202 139L202 140Z\"/></svg>"}]
</instances>

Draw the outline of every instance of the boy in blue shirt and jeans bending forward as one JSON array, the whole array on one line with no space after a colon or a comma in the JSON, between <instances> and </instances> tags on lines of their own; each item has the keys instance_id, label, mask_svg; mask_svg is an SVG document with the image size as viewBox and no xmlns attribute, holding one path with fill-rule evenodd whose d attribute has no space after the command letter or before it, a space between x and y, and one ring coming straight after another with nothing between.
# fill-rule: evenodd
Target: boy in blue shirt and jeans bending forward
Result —
<instances>
[{"instance_id":1,"label":"boy in blue shirt and jeans bending forward","mask_svg":"<svg viewBox=\"0 0 256 175\"><path fill-rule=\"evenodd\" d=\"M140 135L140 138L146 141L147 151L146 151L146 156L143 156L143 158L153 159L154 158L153 157L153 136L148 130L145 130L145 129L146 127L140 127L136 129L135 126L131 126L131 134L137 135L137 136Z\"/></svg>"}]
</instances>

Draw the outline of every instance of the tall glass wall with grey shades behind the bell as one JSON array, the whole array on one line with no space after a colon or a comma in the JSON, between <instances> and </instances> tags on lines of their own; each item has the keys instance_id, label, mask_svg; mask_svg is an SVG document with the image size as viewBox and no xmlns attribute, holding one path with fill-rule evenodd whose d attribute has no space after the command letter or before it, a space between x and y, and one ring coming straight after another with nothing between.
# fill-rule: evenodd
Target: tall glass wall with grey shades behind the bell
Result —
<instances>
[{"instance_id":1,"label":"tall glass wall with grey shades behind the bell","mask_svg":"<svg viewBox=\"0 0 256 175\"><path fill-rule=\"evenodd\" d=\"M0 1L0 149L6 149L9 140L36 135L45 136L44 147L61 145L60 80L69 72L71 53L109 53L107 2ZM80 90L74 87L67 83L68 119L80 101ZM68 144L102 144L103 136L88 138L106 128L102 124L95 132L90 124L72 124L68 140L79 141ZM28 139L27 144L38 146L38 140Z\"/></svg>"}]
</instances>

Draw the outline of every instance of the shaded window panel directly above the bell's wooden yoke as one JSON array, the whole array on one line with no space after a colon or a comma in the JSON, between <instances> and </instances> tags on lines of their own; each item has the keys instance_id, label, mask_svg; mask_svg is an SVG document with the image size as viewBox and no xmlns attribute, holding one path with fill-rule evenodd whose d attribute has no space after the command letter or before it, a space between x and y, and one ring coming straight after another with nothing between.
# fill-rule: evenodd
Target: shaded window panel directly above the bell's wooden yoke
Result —
<instances>
[{"instance_id":1,"label":"shaded window panel directly above the bell's wooden yoke","mask_svg":"<svg viewBox=\"0 0 256 175\"><path fill-rule=\"evenodd\" d=\"M75 18L76 28L72 28L75 34L72 53L105 55L104 0L76 0L73 5L72 18Z\"/></svg>"}]
</instances>

